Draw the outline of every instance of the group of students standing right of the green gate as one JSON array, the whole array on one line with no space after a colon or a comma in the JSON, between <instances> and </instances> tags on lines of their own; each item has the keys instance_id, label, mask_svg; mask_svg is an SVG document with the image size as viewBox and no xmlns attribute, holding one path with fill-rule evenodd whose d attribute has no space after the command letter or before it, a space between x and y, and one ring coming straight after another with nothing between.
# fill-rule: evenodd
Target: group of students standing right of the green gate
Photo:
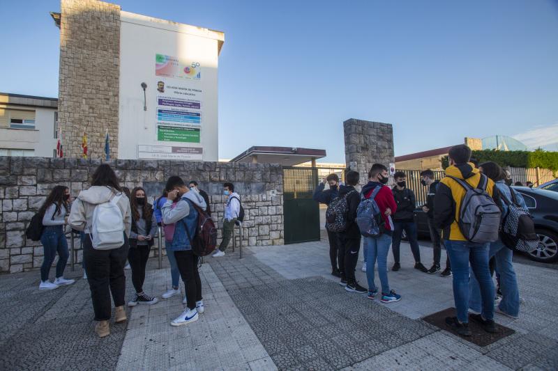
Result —
<instances>
[{"instance_id":1,"label":"group of students standing right of the green gate","mask_svg":"<svg viewBox=\"0 0 558 371\"><path fill-rule=\"evenodd\" d=\"M513 248L504 244L501 237L492 242L472 242L460 228L461 203L467 196L467 190L481 189L499 209L497 221L501 224L508 212L508 207L518 205L527 210L521 194L509 187L511 181L506 172L495 162L489 161L477 166L470 161L471 150L467 145L456 145L449 150L450 166L446 168L446 176L435 180L432 171L421 173L421 184L428 187L428 197L423 211L428 216L428 226L433 246L433 265L427 269L421 263L420 250L416 241L416 226L413 212L416 199L412 190L407 189L405 173L394 174L393 189L386 186L389 173L386 166L374 164L368 173L368 183L359 192L355 189L359 183L359 173L347 171L345 183L340 184L339 178L331 174L319 184L314 192L314 199L329 205L346 204L341 207L345 219L344 228L335 230L326 213L326 229L329 237L329 255L333 276L340 278L340 285L348 292L368 293L369 299L379 297L382 303L400 301L401 295L391 290L387 274L387 256L393 244L395 264L392 271L400 269L399 248L402 231L407 232L409 243L415 260L415 269L428 274L442 271L440 267L442 244L447 251L446 268L441 276L453 276L453 296L456 317L446 318L446 324L462 336L471 336L469 318L483 326L485 331L497 331L494 322L495 306L499 313L517 318L519 315L519 290L513 270ZM329 189L325 189L325 183ZM468 184L468 185L467 185ZM361 232L359 221L361 205L365 200L374 200L378 216L382 220L382 232L370 235ZM512 201L513 200L513 201ZM337 207L335 205L335 207ZM332 212L333 214L333 212ZM335 231L333 231L335 230ZM363 251L368 289L359 285L355 278L356 263L363 237ZM495 262L494 270L489 261ZM377 264L380 287L375 284ZM496 273L498 293L496 296L492 274ZM470 280L469 280L470 277ZM381 291L380 291L381 290ZM495 301L495 299L497 300Z\"/></svg>"}]
</instances>

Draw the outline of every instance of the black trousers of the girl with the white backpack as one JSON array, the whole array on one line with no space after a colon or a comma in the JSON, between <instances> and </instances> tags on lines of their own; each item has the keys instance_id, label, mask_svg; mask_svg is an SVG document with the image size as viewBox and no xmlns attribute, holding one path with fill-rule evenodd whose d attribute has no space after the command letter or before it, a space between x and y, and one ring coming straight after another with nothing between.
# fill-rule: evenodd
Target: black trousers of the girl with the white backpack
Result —
<instances>
[{"instance_id":1,"label":"black trousers of the girl with the white backpack","mask_svg":"<svg viewBox=\"0 0 558 371\"><path fill-rule=\"evenodd\" d=\"M112 250L95 250L91 246L91 236L85 235L83 244L83 260L91 290L91 301L96 321L110 319L110 296L114 306L124 305L126 294L126 276L124 265L128 256L128 238L124 236L124 244Z\"/></svg>"}]
</instances>

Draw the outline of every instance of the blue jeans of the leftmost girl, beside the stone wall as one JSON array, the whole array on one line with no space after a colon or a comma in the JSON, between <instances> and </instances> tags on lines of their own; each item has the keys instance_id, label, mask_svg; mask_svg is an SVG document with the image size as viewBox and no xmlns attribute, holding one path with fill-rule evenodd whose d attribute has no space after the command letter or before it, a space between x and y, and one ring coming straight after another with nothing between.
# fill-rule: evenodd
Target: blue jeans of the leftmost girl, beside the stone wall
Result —
<instances>
[{"instance_id":1,"label":"blue jeans of the leftmost girl, beside the stone wall","mask_svg":"<svg viewBox=\"0 0 558 371\"><path fill-rule=\"evenodd\" d=\"M40 281L47 281L50 273L52 262L58 253L58 262L56 263L56 278L64 275L66 262L68 262L68 241L64 235L62 226L46 226L43 235L40 236L40 243L45 248L45 258L43 265L40 266Z\"/></svg>"}]
</instances>

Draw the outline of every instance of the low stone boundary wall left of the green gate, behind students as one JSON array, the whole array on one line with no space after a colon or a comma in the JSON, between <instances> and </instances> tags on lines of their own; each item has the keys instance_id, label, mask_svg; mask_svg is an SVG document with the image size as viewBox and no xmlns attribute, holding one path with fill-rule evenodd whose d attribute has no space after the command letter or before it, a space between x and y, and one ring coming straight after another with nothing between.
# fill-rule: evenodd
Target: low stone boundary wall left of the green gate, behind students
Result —
<instances>
[{"instance_id":1,"label":"low stone boundary wall left of the green gate, behind students","mask_svg":"<svg viewBox=\"0 0 558 371\"><path fill-rule=\"evenodd\" d=\"M40 242L25 238L31 217L56 184L66 185L72 196L77 196L88 187L89 176L100 163L100 159L0 157L0 272L40 267L43 247ZM284 242L282 169L279 165L168 160L111 160L108 163L119 175L121 185L130 189L143 186L151 199L160 194L170 175L180 175L186 182L197 180L200 189L208 191L213 218L218 220L219 227L225 203L222 184L233 182L246 212L243 245L268 246ZM76 247L76 262L81 262L77 239Z\"/></svg>"}]
</instances>

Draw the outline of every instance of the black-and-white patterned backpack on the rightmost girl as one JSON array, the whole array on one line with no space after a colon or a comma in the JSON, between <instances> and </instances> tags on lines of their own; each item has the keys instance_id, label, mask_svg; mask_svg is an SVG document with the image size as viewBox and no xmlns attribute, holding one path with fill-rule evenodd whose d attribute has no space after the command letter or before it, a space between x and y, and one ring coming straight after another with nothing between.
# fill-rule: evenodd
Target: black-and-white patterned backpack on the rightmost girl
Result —
<instances>
[{"instance_id":1,"label":"black-and-white patterned backpack on the rightmost girl","mask_svg":"<svg viewBox=\"0 0 558 371\"><path fill-rule=\"evenodd\" d=\"M535 251L538 246L538 236L535 232L535 223L531 219L529 210L518 203L515 191L508 186L511 191L511 201L502 194L502 200L508 206L508 212L502 221L500 238L504 245L515 251L525 251L530 253Z\"/></svg>"}]
</instances>

